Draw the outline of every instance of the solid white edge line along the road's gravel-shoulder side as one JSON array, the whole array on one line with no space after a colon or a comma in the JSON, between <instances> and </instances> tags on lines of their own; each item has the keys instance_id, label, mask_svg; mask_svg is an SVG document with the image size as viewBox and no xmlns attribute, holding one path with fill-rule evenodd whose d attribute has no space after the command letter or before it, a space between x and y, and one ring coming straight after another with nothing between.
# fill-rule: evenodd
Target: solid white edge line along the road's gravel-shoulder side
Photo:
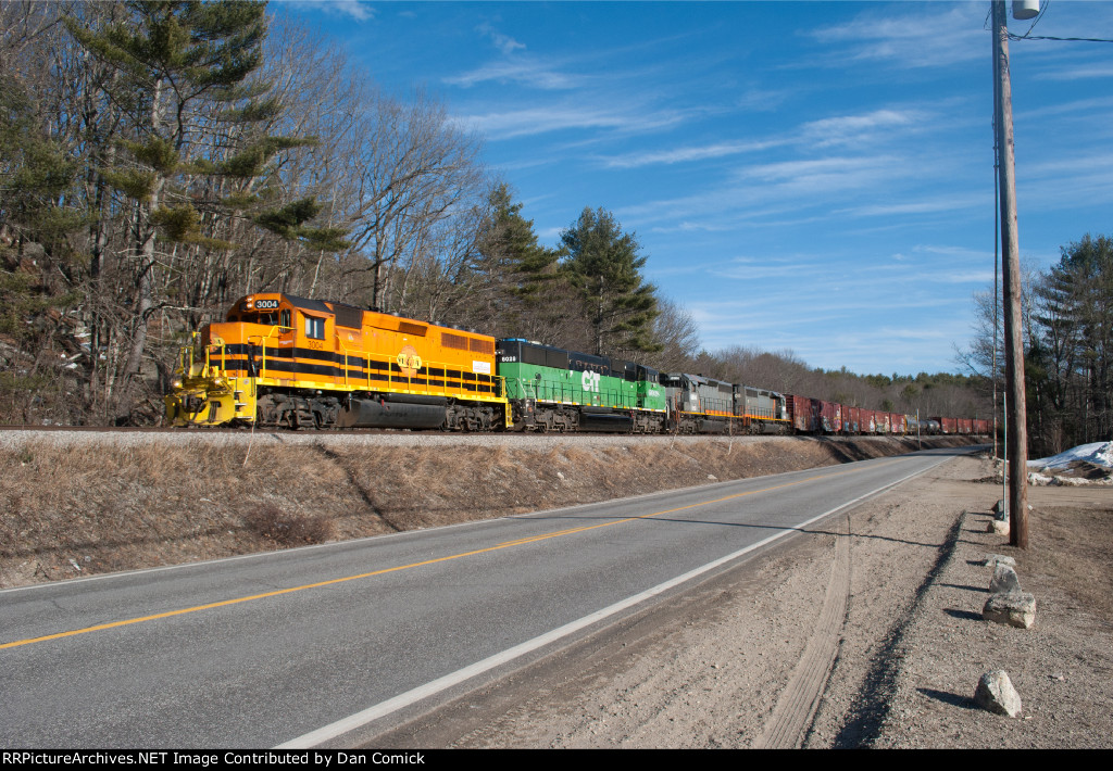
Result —
<instances>
[{"instance_id":1,"label":"solid white edge line along the road's gravel-shoulder side","mask_svg":"<svg viewBox=\"0 0 1113 771\"><path fill-rule=\"evenodd\" d=\"M544 634L533 637L532 640L526 640L525 642L514 645L513 648L508 648L505 651L501 651L500 653L495 653L492 656L487 656L486 659L477 661L474 664L471 664L470 666L465 666L463 669L456 670L455 672L446 674L442 678L432 680L425 683L424 685L418 685L417 688L406 691L405 693L400 693L393 699L387 699L386 701L380 702L374 706L368 706L366 710L356 712L355 714L348 715L347 718L344 718L342 720L337 720L335 723L329 723L328 725L316 729L315 731L311 731L309 733L305 733L301 737L297 737L296 739L290 739L287 742L278 744L274 749L305 750L313 747L318 747L331 739L335 739L336 737L343 735L348 731L354 731L363 725L366 725L367 723L378 720L380 718L385 718L392 712L396 712L397 710L401 710L405 706L410 706L411 704L414 704L415 702L418 702L422 699L426 699L442 691L446 691L447 689L454 685L459 685L460 683L470 680L471 678L483 674L484 672L493 670L496 666L500 666L502 664L513 661L514 659L523 656L526 653L532 653L539 648L543 648L544 645L556 642L561 637L565 637L570 634L579 632L580 630L591 626L592 624L602 621L603 619L612 616L615 613L620 613L627 610L628 607L637 605L640 602L644 602L646 600L649 600L650 597L667 592L670 589L673 589L674 586L678 586L687 581L691 581L697 576L713 571L715 569L725 565L731 560L737 560L743 554L752 552L757 548L761 548L762 546L772 543L774 541L784 537L789 533L795 533L801 527L807 527L811 523L823 520L824 517L830 516L831 514L835 514L836 512L841 511L847 506L853 506L856 503L860 503L865 498L868 498L873 495L877 495L878 493L884 492L889 487L894 487L903 482L906 482L914 476L924 474L930 471L932 468L935 468L935 466L939 465L944 461L948 459L951 458L944 457L925 468L920 468L919 471L913 472L912 474L903 476L899 480L896 480L895 482L890 482L886 485L883 485L877 490L871 490L868 493L859 495L853 501L847 501L846 503L840 504L835 508L830 508L824 512L823 514L817 514L810 520L800 522L796 525L792 525L791 527L786 527L779 533L775 533L774 535L762 538L757 543L750 544L745 548L740 548L737 552L728 554L723 557L719 557L713 562L709 562L705 565L701 565L700 567L688 571L687 573L678 575L674 579L670 579L664 583L658 584L656 586L652 586L651 589L647 589L643 592L629 596L626 600L620 600L613 605L608 605L607 607L598 610L594 613L589 613L588 615L581 619L577 619L575 621L572 621L570 623L567 623L563 626L558 626L556 629L545 632Z\"/></svg>"}]
</instances>

